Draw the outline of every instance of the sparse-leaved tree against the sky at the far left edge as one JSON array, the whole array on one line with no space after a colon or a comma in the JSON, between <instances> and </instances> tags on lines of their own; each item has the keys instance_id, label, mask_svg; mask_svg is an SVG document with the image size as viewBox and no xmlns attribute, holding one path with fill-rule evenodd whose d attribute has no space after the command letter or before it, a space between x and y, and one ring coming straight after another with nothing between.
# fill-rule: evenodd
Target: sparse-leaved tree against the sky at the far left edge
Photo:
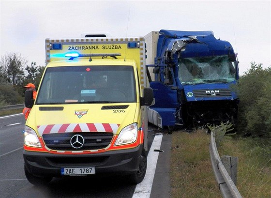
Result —
<instances>
[{"instance_id":1,"label":"sparse-leaved tree against the sky at the far left edge","mask_svg":"<svg viewBox=\"0 0 271 198\"><path fill-rule=\"evenodd\" d=\"M19 85L24 78L27 61L20 54L8 53L0 59L0 77L11 85Z\"/></svg>"}]
</instances>

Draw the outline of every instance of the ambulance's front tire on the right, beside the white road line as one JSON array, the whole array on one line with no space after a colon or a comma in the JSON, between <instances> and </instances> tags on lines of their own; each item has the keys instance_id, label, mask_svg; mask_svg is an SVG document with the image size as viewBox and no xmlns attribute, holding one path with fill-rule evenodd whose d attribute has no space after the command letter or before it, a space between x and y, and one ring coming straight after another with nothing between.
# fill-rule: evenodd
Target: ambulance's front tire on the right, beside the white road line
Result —
<instances>
[{"instance_id":1,"label":"ambulance's front tire on the right, beside the white road line","mask_svg":"<svg viewBox=\"0 0 271 198\"><path fill-rule=\"evenodd\" d=\"M147 156L145 151L140 155L138 167L135 173L128 175L128 181L132 184L137 184L143 181L147 171Z\"/></svg>"}]
</instances>

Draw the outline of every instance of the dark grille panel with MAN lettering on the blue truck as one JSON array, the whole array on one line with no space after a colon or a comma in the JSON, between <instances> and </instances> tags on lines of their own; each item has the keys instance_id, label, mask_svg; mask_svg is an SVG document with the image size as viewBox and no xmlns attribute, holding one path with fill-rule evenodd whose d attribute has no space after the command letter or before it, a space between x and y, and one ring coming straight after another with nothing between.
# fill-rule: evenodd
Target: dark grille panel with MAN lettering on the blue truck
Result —
<instances>
[{"instance_id":1,"label":"dark grille panel with MAN lettering on the blue truck","mask_svg":"<svg viewBox=\"0 0 271 198\"><path fill-rule=\"evenodd\" d=\"M196 98L201 97L231 97L231 91L229 89L218 90L193 90Z\"/></svg>"}]
</instances>

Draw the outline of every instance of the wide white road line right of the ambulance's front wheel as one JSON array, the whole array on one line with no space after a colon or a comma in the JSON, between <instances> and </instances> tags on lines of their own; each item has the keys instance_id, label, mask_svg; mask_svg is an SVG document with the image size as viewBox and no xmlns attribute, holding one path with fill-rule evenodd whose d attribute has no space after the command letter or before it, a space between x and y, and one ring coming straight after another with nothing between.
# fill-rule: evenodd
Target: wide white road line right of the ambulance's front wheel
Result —
<instances>
[{"instance_id":1,"label":"wide white road line right of the ambulance's front wheel","mask_svg":"<svg viewBox=\"0 0 271 198\"><path fill-rule=\"evenodd\" d=\"M154 152L154 149L160 149L163 135L155 136L151 149L148 153L147 157L147 172L144 180L141 183L138 183L135 187L135 192L133 198L150 198L151 195L151 187L154 178L154 173L156 169L157 159L159 152Z\"/></svg>"}]
</instances>

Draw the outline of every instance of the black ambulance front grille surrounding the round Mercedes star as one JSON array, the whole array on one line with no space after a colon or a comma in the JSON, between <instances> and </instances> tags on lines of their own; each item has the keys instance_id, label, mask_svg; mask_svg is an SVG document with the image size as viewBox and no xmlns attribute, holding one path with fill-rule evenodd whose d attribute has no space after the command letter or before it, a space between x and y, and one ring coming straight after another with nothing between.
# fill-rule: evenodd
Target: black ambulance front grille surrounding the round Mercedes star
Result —
<instances>
[{"instance_id":1,"label":"black ambulance front grille surrounding the round Mercedes star","mask_svg":"<svg viewBox=\"0 0 271 198\"><path fill-rule=\"evenodd\" d=\"M70 140L75 134L81 135L85 139L85 143L80 149L75 149L71 145ZM110 144L112 138L113 133L111 132L54 133L43 135L46 147L56 151L85 151L104 149Z\"/></svg>"}]
</instances>

